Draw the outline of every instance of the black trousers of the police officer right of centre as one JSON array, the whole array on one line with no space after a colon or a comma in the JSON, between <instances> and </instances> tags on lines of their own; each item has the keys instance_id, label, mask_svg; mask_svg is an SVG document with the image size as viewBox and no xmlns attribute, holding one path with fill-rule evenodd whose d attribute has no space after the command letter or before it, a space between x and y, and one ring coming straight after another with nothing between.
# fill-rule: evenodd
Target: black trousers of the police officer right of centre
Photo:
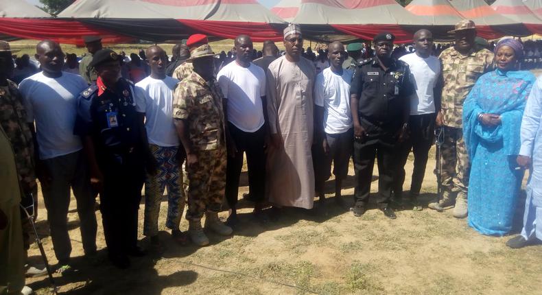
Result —
<instances>
[{"instance_id":1,"label":"black trousers of the police officer right of centre","mask_svg":"<svg viewBox=\"0 0 542 295\"><path fill-rule=\"evenodd\" d=\"M355 206L365 207L368 203L375 156L379 172L377 206L381 209L388 206L397 166L397 144L391 134L394 133L369 132L361 141L354 140Z\"/></svg>"}]
</instances>

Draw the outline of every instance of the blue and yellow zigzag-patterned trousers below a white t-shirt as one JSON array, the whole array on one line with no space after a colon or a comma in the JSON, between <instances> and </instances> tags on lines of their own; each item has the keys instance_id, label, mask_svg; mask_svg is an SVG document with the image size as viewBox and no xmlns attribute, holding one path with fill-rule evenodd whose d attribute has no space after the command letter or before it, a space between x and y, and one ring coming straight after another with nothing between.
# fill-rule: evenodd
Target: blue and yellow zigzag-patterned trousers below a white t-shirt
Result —
<instances>
[{"instance_id":1,"label":"blue and yellow zigzag-patterned trousers below a white t-shirt","mask_svg":"<svg viewBox=\"0 0 542 295\"><path fill-rule=\"evenodd\" d=\"M143 235L158 235L158 215L164 189L167 187L167 219L165 226L178 230L182 212L185 211L185 190L182 188L182 171L178 156L179 147L160 147L149 145L156 159L157 173L147 175L145 180L145 221ZM182 153L182 152L181 152Z\"/></svg>"}]
</instances>

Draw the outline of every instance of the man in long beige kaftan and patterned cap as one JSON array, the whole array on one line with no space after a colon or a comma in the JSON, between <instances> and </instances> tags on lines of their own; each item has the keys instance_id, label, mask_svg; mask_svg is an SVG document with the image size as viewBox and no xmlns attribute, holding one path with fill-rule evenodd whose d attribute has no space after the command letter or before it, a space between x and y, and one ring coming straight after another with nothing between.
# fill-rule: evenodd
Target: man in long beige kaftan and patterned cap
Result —
<instances>
[{"instance_id":1,"label":"man in long beige kaftan and patterned cap","mask_svg":"<svg viewBox=\"0 0 542 295\"><path fill-rule=\"evenodd\" d=\"M266 196L276 207L311 209L314 169L312 90L316 70L301 56L303 37L298 25L284 30L285 56L267 72L268 118L272 147L268 151Z\"/></svg>"}]
</instances>

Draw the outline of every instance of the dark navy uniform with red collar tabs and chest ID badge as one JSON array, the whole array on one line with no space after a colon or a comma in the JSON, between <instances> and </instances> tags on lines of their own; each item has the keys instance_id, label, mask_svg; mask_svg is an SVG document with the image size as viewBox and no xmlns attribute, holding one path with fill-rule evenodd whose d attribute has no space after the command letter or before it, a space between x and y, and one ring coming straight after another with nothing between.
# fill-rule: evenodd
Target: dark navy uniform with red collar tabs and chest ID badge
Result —
<instances>
[{"instance_id":1,"label":"dark navy uniform with red collar tabs and chest ID badge","mask_svg":"<svg viewBox=\"0 0 542 295\"><path fill-rule=\"evenodd\" d=\"M145 181L142 115L137 112L134 84L120 78L115 89L101 80L78 97L75 134L90 136L95 147L104 191L100 211L110 256L137 248L137 217Z\"/></svg>"}]
</instances>

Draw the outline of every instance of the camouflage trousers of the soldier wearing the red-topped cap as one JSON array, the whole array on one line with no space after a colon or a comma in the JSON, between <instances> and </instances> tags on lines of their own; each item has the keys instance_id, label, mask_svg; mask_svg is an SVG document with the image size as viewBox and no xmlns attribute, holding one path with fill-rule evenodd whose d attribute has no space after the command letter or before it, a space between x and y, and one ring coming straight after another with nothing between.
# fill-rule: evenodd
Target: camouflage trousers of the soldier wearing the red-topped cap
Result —
<instances>
[{"instance_id":1,"label":"camouflage trousers of the soldier wearing the red-topped cap","mask_svg":"<svg viewBox=\"0 0 542 295\"><path fill-rule=\"evenodd\" d=\"M198 163L187 167L187 220L200 220L207 211L220 211L226 189L226 147L201 150L196 156Z\"/></svg>"}]
</instances>

